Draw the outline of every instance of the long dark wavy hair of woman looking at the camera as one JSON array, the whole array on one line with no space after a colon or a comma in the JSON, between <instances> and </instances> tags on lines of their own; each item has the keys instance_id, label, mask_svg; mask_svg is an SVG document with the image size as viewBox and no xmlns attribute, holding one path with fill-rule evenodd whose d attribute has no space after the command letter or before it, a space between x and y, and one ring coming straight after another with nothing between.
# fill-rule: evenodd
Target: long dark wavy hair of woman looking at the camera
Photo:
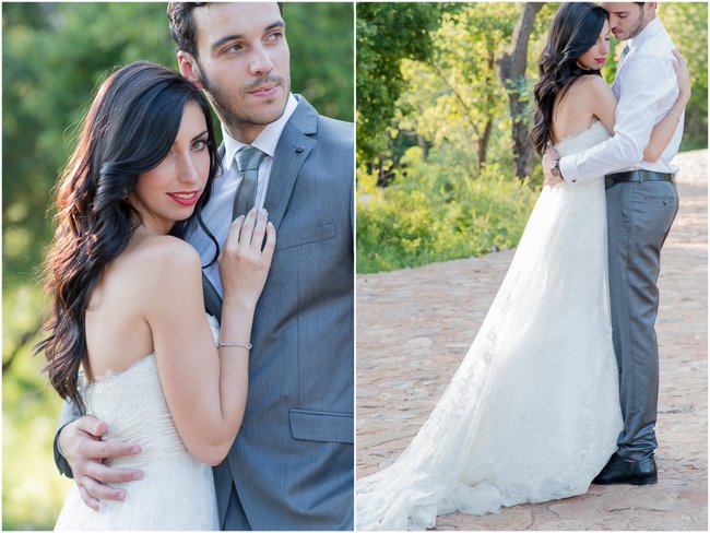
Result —
<instances>
[{"instance_id":1,"label":"long dark wavy hair of woman looking at the camera","mask_svg":"<svg viewBox=\"0 0 710 533\"><path fill-rule=\"evenodd\" d=\"M104 268L126 249L140 226L141 216L128 196L139 175L155 168L167 155L188 102L197 103L204 114L210 153L204 193L188 222L197 217L214 241L200 216L220 168L210 108L192 83L165 67L133 62L100 85L57 185L57 229L45 273L52 296L45 322L49 334L35 346L35 353L45 353L45 370L59 395L82 412L76 384L79 367L86 357L84 324L90 297Z\"/></svg>"}]
</instances>

